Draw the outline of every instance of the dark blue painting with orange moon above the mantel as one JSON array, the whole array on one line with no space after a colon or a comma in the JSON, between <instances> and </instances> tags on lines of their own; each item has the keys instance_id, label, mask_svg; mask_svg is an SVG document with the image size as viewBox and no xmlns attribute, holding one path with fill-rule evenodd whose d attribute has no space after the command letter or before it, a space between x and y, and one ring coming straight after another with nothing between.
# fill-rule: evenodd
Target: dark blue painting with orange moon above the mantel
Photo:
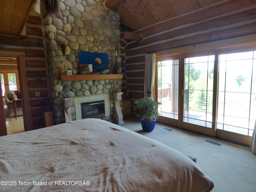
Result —
<instances>
[{"instance_id":1,"label":"dark blue painting with orange moon above the mantel","mask_svg":"<svg viewBox=\"0 0 256 192\"><path fill-rule=\"evenodd\" d=\"M93 73L98 73L109 68L108 54L94 52L78 52L79 64L92 64Z\"/></svg>"}]
</instances>

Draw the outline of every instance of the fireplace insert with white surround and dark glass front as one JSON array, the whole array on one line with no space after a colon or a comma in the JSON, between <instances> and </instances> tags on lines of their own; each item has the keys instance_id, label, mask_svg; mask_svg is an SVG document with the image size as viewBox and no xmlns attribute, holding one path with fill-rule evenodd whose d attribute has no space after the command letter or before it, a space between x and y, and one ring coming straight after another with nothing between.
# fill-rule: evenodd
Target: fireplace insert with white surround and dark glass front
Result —
<instances>
[{"instance_id":1,"label":"fireplace insert with white surround and dark glass front","mask_svg":"<svg viewBox=\"0 0 256 192\"><path fill-rule=\"evenodd\" d=\"M76 120L110 116L109 95L75 98Z\"/></svg>"}]
</instances>

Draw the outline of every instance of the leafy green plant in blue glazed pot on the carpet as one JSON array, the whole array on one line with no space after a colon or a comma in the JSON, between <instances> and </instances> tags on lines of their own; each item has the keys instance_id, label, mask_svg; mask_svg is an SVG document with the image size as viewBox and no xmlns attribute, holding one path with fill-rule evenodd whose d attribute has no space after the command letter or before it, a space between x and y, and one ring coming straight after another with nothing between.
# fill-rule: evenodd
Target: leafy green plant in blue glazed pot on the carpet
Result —
<instances>
[{"instance_id":1,"label":"leafy green plant in blue glazed pot on the carpet","mask_svg":"<svg viewBox=\"0 0 256 192\"><path fill-rule=\"evenodd\" d=\"M156 108L161 103L154 101L150 97L146 97L134 101L134 104L134 111L138 109L136 117L141 120L142 129L146 132L152 132L158 118L158 111Z\"/></svg>"}]
</instances>

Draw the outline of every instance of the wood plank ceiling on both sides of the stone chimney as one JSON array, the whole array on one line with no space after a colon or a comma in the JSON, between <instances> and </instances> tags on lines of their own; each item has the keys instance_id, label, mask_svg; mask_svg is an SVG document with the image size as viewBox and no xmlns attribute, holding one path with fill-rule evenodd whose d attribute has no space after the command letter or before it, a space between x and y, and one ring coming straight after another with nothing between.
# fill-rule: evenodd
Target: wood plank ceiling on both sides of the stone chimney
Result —
<instances>
[{"instance_id":1,"label":"wood plank ceiling on both sides of the stone chimney","mask_svg":"<svg viewBox=\"0 0 256 192\"><path fill-rule=\"evenodd\" d=\"M116 7L120 22L140 30L158 22L232 0L105 0ZM34 0L0 0L0 35L20 36Z\"/></svg>"}]
</instances>

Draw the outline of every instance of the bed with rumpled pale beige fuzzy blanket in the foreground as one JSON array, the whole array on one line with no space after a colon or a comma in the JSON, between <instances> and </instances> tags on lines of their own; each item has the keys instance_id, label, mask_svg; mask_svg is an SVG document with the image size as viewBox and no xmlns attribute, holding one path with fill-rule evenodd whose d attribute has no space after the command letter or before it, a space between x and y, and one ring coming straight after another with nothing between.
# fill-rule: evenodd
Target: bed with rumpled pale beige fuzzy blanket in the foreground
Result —
<instances>
[{"instance_id":1,"label":"bed with rumpled pale beige fuzzy blanket in the foreground","mask_svg":"<svg viewBox=\"0 0 256 192\"><path fill-rule=\"evenodd\" d=\"M0 137L1 191L209 192L190 158L100 119Z\"/></svg>"}]
</instances>

